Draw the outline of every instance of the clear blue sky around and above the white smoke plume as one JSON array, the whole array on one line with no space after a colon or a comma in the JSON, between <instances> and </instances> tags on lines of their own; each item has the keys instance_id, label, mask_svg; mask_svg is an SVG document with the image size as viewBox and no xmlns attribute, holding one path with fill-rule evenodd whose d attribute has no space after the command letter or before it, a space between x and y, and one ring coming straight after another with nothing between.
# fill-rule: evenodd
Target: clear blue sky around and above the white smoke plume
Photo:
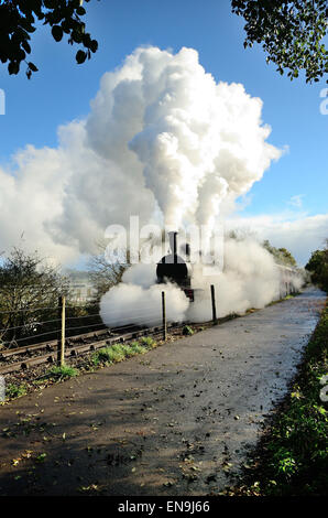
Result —
<instances>
[{"instance_id":1,"label":"clear blue sky around and above the white smoke plume","mask_svg":"<svg viewBox=\"0 0 328 518\"><path fill-rule=\"evenodd\" d=\"M91 0L86 7L87 28L99 42L90 62L76 65L77 47L53 42L48 30L41 28L33 36L31 55L40 72L28 80L24 66L23 73L11 77L1 67L0 87L6 91L6 116L0 117L2 166L29 143L55 147L57 127L88 114L101 75L120 65L136 46L151 44L174 52L190 46L217 82L242 83L248 94L263 100L263 121L272 127L269 141L286 147L285 154L254 184L239 216L251 220L269 215L285 223L327 214L328 116L319 110L325 80L306 85L300 76L291 82L266 65L260 46L244 50L243 21L231 14L228 0ZM302 253L304 261L306 252Z\"/></svg>"}]
</instances>

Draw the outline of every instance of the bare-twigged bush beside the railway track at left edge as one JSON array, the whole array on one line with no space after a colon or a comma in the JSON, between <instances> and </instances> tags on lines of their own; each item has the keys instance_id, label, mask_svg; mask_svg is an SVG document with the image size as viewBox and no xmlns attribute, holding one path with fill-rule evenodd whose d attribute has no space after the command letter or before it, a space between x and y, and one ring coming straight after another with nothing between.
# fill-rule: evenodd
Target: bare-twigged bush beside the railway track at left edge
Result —
<instances>
[{"instance_id":1,"label":"bare-twigged bush beside the railway track at left edge","mask_svg":"<svg viewBox=\"0 0 328 518\"><path fill-rule=\"evenodd\" d=\"M14 248L0 266L1 341L33 336L41 321L54 323L58 296L68 293L69 281L57 269L46 265L37 252L29 255Z\"/></svg>"}]
</instances>

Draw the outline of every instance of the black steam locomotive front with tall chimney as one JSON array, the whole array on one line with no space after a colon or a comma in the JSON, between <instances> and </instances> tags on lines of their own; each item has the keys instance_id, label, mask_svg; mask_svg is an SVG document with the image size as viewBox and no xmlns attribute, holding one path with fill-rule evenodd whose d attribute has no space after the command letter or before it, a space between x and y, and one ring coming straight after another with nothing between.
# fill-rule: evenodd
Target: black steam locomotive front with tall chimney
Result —
<instances>
[{"instance_id":1,"label":"black steam locomotive front with tall chimney","mask_svg":"<svg viewBox=\"0 0 328 518\"><path fill-rule=\"evenodd\" d=\"M176 231L168 233L171 253L164 256L157 263L157 282L174 282L182 289L190 288L190 265L177 255ZM186 249L188 249L186 247Z\"/></svg>"}]
</instances>

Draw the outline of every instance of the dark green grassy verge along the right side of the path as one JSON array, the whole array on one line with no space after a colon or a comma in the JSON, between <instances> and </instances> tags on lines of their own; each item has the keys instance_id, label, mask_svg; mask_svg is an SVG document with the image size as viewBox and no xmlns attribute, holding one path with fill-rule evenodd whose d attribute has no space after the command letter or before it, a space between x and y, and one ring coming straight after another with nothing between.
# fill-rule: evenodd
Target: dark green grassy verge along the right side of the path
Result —
<instances>
[{"instance_id":1,"label":"dark green grassy verge along the right side of the path","mask_svg":"<svg viewBox=\"0 0 328 518\"><path fill-rule=\"evenodd\" d=\"M316 496L328 487L328 413L321 378L328 374L328 305L306 347L288 396L229 495ZM322 393L322 392L321 392ZM248 463L250 464L250 462Z\"/></svg>"}]
</instances>

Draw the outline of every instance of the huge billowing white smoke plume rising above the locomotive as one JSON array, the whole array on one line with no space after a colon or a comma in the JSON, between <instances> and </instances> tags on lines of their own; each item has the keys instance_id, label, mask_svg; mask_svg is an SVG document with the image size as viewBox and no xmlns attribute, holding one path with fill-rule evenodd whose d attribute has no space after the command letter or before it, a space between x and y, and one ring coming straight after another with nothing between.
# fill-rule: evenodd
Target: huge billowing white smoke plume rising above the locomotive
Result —
<instances>
[{"instance_id":1,"label":"huge billowing white smoke plume rising above the locomotive","mask_svg":"<svg viewBox=\"0 0 328 518\"><path fill-rule=\"evenodd\" d=\"M212 228L220 204L281 154L261 109L242 85L217 84L192 48L136 48L102 76L87 119L59 128L57 149L29 145L14 171L0 169L2 248L24 233L31 248L68 261L131 214Z\"/></svg>"}]
</instances>

